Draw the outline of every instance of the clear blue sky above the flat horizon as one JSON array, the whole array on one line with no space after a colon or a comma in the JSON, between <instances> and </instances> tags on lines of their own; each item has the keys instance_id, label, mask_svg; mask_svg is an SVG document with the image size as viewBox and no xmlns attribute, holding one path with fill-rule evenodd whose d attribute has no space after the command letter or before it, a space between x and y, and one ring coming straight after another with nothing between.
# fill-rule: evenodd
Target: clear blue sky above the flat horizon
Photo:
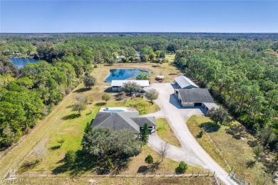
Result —
<instances>
[{"instance_id":1,"label":"clear blue sky above the flat horizon","mask_svg":"<svg viewBox=\"0 0 278 185\"><path fill-rule=\"evenodd\" d=\"M71 32L278 33L278 0L0 0L0 33Z\"/></svg>"}]
</instances>

